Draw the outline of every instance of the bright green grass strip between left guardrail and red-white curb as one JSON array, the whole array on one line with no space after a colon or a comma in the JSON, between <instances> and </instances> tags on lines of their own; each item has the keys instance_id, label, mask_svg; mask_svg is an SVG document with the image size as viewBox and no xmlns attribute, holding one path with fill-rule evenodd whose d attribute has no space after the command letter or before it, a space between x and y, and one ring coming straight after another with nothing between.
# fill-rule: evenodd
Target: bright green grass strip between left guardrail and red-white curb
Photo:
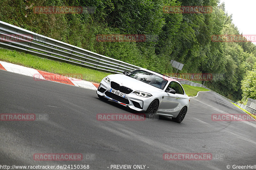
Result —
<instances>
[{"instance_id":1,"label":"bright green grass strip between left guardrail and red-white curb","mask_svg":"<svg viewBox=\"0 0 256 170\"><path fill-rule=\"evenodd\" d=\"M44 58L40 58L35 55L21 53L17 51L10 51L0 48L0 60L8 63L19 64L25 67L30 67L37 70L43 70L60 75L77 75L82 74L82 79L95 83L100 83L102 78L111 74L98 70L92 70L85 67L63 63L59 61L52 61ZM81 76L80 76L81 77Z\"/></svg>"}]
</instances>

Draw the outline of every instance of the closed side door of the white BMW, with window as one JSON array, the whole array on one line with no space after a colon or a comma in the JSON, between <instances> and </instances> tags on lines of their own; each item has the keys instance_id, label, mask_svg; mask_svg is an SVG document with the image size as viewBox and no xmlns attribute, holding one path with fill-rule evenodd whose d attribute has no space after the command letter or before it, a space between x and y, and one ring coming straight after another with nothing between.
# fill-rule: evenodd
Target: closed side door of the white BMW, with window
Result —
<instances>
[{"instance_id":1,"label":"closed side door of the white BMW, with window","mask_svg":"<svg viewBox=\"0 0 256 170\"><path fill-rule=\"evenodd\" d=\"M183 99L184 91L179 83L171 81L167 87L175 90L176 94L169 92L163 93L164 95L162 96L162 102L160 103L158 109L158 112L161 113L175 112L180 108L180 101Z\"/></svg>"}]
</instances>

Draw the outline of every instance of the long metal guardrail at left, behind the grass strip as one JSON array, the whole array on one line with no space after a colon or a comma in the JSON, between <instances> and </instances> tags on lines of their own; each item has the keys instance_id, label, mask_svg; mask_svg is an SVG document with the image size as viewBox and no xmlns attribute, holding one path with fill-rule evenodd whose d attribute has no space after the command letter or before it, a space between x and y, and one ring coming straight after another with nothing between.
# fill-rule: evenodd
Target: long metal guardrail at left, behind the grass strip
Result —
<instances>
[{"instance_id":1,"label":"long metal guardrail at left, behind the grass strip","mask_svg":"<svg viewBox=\"0 0 256 170\"><path fill-rule=\"evenodd\" d=\"M0 21L0 34L8 35L16 39L16 41L7 42L4 41L2 37L0 46L3 48L15 49L49 59L78 64L80 66L112 73L132 71L141 68L65 42L54 40L3 21ZM24 39L18 37L18 35L27 37L26 40L28 41L22 41Z\"/></svg>"}]
</instances>

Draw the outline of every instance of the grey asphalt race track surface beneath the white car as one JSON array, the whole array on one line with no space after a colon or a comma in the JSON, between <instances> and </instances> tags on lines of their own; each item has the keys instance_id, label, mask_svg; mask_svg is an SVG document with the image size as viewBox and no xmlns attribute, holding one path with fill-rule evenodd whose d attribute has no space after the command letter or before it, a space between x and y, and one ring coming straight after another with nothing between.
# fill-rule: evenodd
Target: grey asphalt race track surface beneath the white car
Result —
<instances>
[{"instance_id":1,"label":"grey asphalt race track surface beneath the white car","mask_svg":"<svg viewBox=\"0 0 256 170\"><path fill-rule=\"evenodd\" d=\"M1 121L0 165L146 165L148 170L227 169L256 164L256 123L216 122L245 114L212 92L191 98L183 122L97 121L99 113L133 113L96 91L0 70L0 113L47 114L46 121ZM92 153L94 160L35 161L35 153ZM212 160L164 160L164 153L211 153ZM109 168L108 168L109 167ZM113 169L113 168L112 168ZM133 168L132 168L133 169Z\"/></svg>"}]
</instances>

